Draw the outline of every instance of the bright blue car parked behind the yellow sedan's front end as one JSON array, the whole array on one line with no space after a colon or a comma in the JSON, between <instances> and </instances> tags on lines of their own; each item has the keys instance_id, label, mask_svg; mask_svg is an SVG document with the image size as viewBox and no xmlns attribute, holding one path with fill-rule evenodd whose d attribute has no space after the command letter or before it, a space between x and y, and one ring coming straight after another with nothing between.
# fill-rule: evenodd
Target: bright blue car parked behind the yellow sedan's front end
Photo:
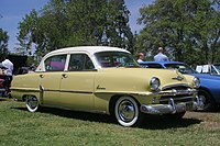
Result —
<instances>
[{"instance_id":1,"label":"bright blue car parked behind the yellow sedan's front end","mask_svg":"<svg viewBox=\"0 0 220 146\"><path fill-rule=\"evenodd\" d=\"M185 75L193 75L200 79L198 97L204 101L200 108L202 111L212 111L220 103L220 76L210 74L198 74L190 66L180 61L143 61L140 63L145 68L178 69Z\"/></svg>"}]
</instances>

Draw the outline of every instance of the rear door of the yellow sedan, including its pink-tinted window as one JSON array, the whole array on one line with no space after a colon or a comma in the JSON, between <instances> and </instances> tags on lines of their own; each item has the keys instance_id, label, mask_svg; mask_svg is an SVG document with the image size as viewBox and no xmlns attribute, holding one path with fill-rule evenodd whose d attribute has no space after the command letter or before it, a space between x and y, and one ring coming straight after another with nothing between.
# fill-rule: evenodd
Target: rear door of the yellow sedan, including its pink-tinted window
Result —
<instances>
[{"instance_id":1,"label":"rear door of the yellow sedan, including its pink-tinted window","mask_svg":"<svg viewBox=\"0 0 220 146\"><path fill-rule=\"evenodd\" d=\"M62 103L61 80L63 78L67 55L54 55L45 59L45 71L40 72L41 101L43 104L57 105Z\"/></svg>"}]
</instances>

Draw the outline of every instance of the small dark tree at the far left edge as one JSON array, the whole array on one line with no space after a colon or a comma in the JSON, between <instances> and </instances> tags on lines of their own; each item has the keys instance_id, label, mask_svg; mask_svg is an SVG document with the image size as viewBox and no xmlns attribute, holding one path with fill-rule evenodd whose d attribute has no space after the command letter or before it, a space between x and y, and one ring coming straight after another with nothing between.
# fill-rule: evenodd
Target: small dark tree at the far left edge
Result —
<instances>
[{"instance_id":1,"label":"small dark tree at the far left edge","mask_svg":"<svg viewBox=\"0 0 220 146\"><path fill-rule=\"evenodd\" d=\"M0 29L0 54L8 54L8 41L9 41L9 35L7 34L8 32L3 31Z\"/></svg>"}]
</instances>

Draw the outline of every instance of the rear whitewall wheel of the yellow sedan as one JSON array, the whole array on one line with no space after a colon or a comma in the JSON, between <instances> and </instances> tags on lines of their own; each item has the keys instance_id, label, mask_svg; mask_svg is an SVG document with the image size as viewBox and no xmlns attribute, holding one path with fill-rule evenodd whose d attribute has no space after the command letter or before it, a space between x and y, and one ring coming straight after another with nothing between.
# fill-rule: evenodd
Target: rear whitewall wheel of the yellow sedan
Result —
<instances>
[{"instance_id":1,"label":"rear whitewall wheel of the yellow sedan","mask_svg":"<svg viewBox=\"0 0 220 146\"><path fill-rule=\"evenodd\" d=\"M26 108L30 112L35 112L38 109L38 100L34 96L26 97Z\"/></svg>"}]
</instances>

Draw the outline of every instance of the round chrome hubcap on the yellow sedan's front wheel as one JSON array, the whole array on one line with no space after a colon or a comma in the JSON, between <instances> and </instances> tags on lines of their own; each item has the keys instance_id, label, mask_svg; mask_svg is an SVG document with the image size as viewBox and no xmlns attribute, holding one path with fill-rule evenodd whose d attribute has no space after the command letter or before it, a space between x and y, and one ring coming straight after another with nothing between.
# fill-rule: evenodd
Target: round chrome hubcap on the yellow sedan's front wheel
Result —
<instances>
[{"instance_id":1,"label":"round chrome hubcap on the yellow sedan's front wheel","mask_svg":"<svg viewBox=\"0 0 220 146\"><path fill-rule=\"evenodd\" d=\"M119 105L119 116L124 122L131 122L135 116L134 104L128 100L124 100Z\"/></svg>"}]
</instances>

